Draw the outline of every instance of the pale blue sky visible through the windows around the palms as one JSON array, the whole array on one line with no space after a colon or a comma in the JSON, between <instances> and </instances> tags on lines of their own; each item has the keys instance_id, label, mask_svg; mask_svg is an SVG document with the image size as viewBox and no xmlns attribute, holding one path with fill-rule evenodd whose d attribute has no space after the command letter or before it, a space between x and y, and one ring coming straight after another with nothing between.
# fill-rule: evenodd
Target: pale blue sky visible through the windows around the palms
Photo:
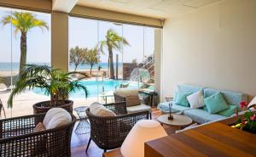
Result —
<instances>
[{"instance_id":1,"label":"pale blue sky visible through the windows around the palms","mask_svg":"<svg viewBox=\"0 0 256 157\"><path fill-rule=\"evenodd\" d=\"M0 8L0 18L17 9ZM20 10L19 10L20 11ZM33 28L27 33L27 62L49 63L50 62L50 14L36 13L39 20L44 20L49 25L49 30L42 31ZM115 25L112 22L100 20L88 20L69 17L69 48L94 48L99 41L105 40L105 34L112 28L119 36L124 36L130 46L125 46L123 53L119 54L119 62L131 62L137 59L143 60L143 55L154 53L154 28L138 25ZM143 33L143 29L144 32ZM14 29L13 29L14 30ZM0 62L20 61L20 33L13 34L10 25L0 25ZM144 37L143 37L144 34ZM145 39L143 41L143 38ZM12 43L11 43L12 41ZM11 54L11 48L13 53ZM108 51L101 54L101 61L108 62Z\"/></svg>"}]
</instances>

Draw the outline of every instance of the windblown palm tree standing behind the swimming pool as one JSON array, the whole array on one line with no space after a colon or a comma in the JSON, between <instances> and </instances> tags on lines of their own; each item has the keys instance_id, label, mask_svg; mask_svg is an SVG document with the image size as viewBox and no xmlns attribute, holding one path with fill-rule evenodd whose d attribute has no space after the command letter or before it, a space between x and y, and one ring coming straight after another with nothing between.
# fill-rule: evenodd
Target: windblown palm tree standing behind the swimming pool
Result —
<instances>
[{"instance_id":1,"label":"windblown palm tree standing behind the swimming pool","mask_svg":"<svg viewBox=\"0 0 256 157\"><path fill-rule=\"evenodd\" d=\"M100 51L103 52L103 48L108 48L108 66L110 68L110 79L114 79L113 73L113 49L121 51L122 45L129 45L125 37L119 36L115 31L109 29L106 40L100 42Z\"/></svg>"}]
</instances>

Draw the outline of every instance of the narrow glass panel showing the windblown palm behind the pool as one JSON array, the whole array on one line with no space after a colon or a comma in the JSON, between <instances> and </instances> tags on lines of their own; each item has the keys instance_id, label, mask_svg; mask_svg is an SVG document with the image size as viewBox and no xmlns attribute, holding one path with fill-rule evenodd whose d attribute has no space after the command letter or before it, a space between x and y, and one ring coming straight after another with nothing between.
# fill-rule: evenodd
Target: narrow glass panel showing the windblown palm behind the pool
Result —
<instances>
[{"instance_id":1,"label":"narrow glass panel showing the windblown palm behind the pool","mask_svg":"<svg viewBox=\"0 0 256 157\"><path fill-rule=\"evenodd\" d=\"M113 91L122 85L123 25L99 21L99 50L101 76L98 81L99 101L113 103Z\"/></svg>"}]
</instances>

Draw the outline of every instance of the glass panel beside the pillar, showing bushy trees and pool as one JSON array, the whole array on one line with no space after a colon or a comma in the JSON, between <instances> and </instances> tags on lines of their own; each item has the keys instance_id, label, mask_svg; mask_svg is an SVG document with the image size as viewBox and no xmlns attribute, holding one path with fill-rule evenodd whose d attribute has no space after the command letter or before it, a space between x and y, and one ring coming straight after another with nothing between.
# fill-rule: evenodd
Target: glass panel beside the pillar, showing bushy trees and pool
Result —
<instances>
[{"instance_id":1,"label":"glass panel beside the pillar, showing bushy trees and pool","mask_svg":"<svg viewBox=\"0 0 256 157\"><path fill-rule=\"evenodd\" d=\"M83 91L73 93L71 99L74 101L74 107L89 105L98 100L97 84L101 66L101 55L97 48L98 29L98 20L69 17L69 71L87 74L88 77L80 83L89 91L88 98L85 98Z\"/></svg>"}]
</instances>

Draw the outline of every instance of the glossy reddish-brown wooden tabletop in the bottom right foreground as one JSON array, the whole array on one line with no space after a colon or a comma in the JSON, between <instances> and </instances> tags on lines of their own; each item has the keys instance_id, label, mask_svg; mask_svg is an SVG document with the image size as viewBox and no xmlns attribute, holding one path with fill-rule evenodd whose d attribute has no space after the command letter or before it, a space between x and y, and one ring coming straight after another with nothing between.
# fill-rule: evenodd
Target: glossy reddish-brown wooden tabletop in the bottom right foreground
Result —
<instances>
[{"instance_id":1,"label":"glossy reddish-brown wooden tabletop in the bottom right foreground","mask_svg":"<svg viewBox=\"0 0 256 157\"><path fill-rule=\"evenodd\" d=\"M256 135L213 122L145 143L145 157L256 156Z\"/></svg>"}]
</instances>

